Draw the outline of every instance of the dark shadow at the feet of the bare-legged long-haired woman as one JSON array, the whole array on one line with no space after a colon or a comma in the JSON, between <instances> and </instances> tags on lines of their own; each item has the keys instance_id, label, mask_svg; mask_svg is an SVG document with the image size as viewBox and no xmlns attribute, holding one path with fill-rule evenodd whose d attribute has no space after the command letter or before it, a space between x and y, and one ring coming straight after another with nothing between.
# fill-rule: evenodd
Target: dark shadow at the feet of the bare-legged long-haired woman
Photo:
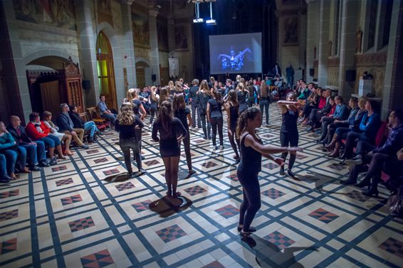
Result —
<instances>
[{"instance_id":1,"label":"dark shadow at the feet of the bare-legged long-haired woman","mask_svg":"<svg viewBox=\"0 0 403 268\"><path fill-rule=\"evenodd\" d=\"M179 196L178 198L169 198L165 195L159 200L153 201L148 205L150 210L156 212L162 218L167 218L175 213L186 210L192 205L192 200L185 198L184 196Z\"/></svg>"}]
</instances>

